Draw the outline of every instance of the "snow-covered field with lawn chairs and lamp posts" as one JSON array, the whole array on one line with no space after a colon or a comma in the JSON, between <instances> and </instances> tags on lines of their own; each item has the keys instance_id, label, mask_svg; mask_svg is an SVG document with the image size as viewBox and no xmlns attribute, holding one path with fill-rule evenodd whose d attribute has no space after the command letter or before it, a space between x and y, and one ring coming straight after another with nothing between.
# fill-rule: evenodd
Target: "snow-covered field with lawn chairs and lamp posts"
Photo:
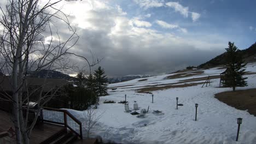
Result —
<instances>
[{"instance_id":1,"label":"snow-covered field with lawn chairs and lamp posts","mask_svg":"<svg viewBox=\"0 0 256 144\"><path fill-rule=\"evenodd\" d=\"M255 63L248 64L246 71L256 72L255 65ZM256 117L214 98L216 93L231 91L231 88L217 88L219 79L211 80L211 86L203 88L200 84L153 91L154 103L152 103L152 94L136 92L136 89L146 86L158 85L159 87L159 85L177 83L180 80L219 75L224 69L213 68L202 71L202 74L179 79L166 79L167 76L174 75L168 74L142 78L147 79L145 81L135 79L110 84L109 87L117 87L117 89L110 90L108 96L100 98L100 105L96 111L98 115L102 113L99 121L101 127L94 131L94 136L101 136L104 142L117 143L256 143ZM186 74L189 72L184 73ZM248 86L237 89L256 88L256 74L246 75L246 77L248 77ZM124 104L103 104L104 100L116 102L124 100L125 94L131 110L134 101L137 101L140 109L147 109L149 106L146 118L137 118L124 112ZM176 97L179 98L178 103L184 105L179 106L178 110L176 110ZM195 103L199 104L197 121L195 121ZM162 111L164 115L156 116L153 110ZM77 118L83 115L80 111L71 110L71 112ZM239 140L236 142L236 118L238 117L243 118L243 122Z\"/></svg>"}]
</instances>

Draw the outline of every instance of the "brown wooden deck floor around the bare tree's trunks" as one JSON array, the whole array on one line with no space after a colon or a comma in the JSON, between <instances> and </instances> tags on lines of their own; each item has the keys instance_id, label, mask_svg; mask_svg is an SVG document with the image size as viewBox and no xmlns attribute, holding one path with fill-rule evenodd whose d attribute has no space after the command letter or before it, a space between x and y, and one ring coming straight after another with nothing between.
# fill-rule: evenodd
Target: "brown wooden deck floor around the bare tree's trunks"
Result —
<instances>
[{"instance_id":1,"label":"brown wooden deck floor around the bare tree's trunks","mask_svg":"<svg viewBox=\"0 0 256 144\"><path fill-rule=\"evenodd\" d=\"M8 130L10 127L14 127L13 122L11 121L9 113L0 111L0 133L2 131ZM46 139L49 139L51 136L60 133L60 131L66 130L65 127L61 125L42 123L36 125L31 133L30 143L37 144L41 143Z\"/></svg>"}]
</instances>

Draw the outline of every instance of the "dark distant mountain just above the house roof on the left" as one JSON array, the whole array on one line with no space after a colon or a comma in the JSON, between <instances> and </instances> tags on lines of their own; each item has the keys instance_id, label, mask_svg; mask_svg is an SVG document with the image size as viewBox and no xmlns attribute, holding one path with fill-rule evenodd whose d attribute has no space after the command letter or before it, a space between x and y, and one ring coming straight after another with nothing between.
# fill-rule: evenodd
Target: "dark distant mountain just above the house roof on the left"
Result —
<instances>
[{"instance_id":1,"label":"dark distant mountain just above the house roof on the left","mask_svg":"<svg viewBox=\"0 0 256 144\"><path fill-rule=\"evenodd\" d=\"M69 76L67 74L63 74L60 71L56 71L56 70L30 71L28 73L28 76L30 76L30 77L38 77L38 78L45 78L45 77L47 77L47 78L51 78L51 79L66 79L66 80L72 79L71 76Z\"/></svg>"}]
</instances>

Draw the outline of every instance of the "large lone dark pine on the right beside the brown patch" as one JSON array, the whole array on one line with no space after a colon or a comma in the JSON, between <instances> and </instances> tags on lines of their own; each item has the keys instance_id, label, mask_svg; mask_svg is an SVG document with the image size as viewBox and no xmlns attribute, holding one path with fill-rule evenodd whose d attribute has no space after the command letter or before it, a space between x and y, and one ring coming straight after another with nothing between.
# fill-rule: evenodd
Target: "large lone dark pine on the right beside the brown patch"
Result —
<instances>
[{"instance_id":1,"label":"large lone dark pine on the right beside the brown patch","mask_svg":"<svg viewBox=\"0 0 256 144\"><path fill-rule=\"evenodd\" d=\"M229 42L229 47L226 50L226 61L227 69L224 74L223 85L226 87L232 87L235 91L236 87L245 87L247 77L245 75L246 63L243 62L242 56L238 52L237 47L234 43Z\"/></svg>"}]
</instances>

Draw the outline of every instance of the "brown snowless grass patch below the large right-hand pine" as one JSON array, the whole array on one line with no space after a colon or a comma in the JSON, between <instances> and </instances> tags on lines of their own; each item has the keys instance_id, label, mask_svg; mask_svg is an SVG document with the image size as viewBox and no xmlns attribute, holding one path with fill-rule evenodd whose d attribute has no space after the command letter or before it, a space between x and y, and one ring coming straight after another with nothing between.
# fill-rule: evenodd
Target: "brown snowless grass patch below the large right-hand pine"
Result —
<instances>
[{"instance_id":1,"label":"brown snowless grass patch below the large right-hand pine","mask_svg":"<svg viewBox=\"0 0 256 144\"><path fill-rule=\"evenodd\" d=\"M215 98L238 110L248 110L256 116L256 88L215 94Z\"/></svg>"}]
</instances>

